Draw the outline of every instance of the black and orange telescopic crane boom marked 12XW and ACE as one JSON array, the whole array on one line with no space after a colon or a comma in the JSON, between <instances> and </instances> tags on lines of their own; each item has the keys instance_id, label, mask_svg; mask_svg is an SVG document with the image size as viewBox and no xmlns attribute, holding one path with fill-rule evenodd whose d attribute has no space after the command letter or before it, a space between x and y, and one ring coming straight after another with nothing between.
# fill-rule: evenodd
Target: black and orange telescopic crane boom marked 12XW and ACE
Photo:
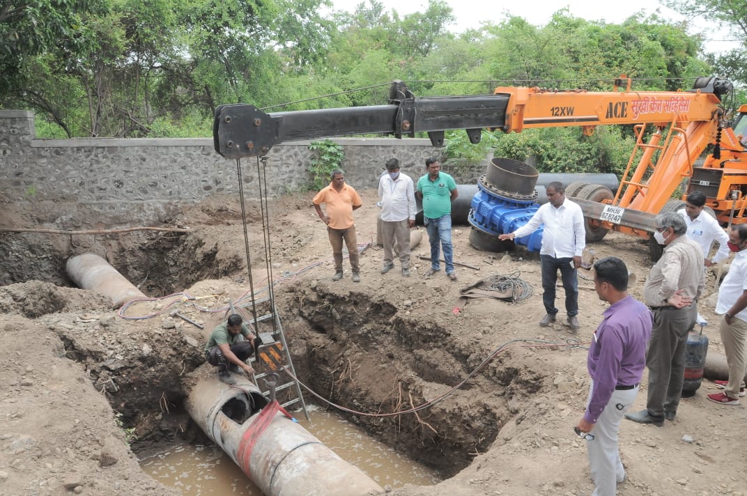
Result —
<instances>
[{"instance_id":1,"label":"black and orange telescopic crane boom marked 12XW and ACE","mask_svg":"<svg viewBox=\"0 0 747 496\"><path fill-rule=\"evenodd\" d=\"M619 88L622 81L627 87ZM622 89L622 90L621 90ZM720 96L731 84L698 78L689 91L632 91L620 79L615 91L552 91L537 87L499 87L492 95L415 97L402 81L394 81L389 105L330 108L266 114L254 105L222 105L215 111L215 149L226 158L266 155L279 143L352 134L414 136L426 132L433 146L442 146L444 131L465 129L472 143L483 128L520 132L524 128L609 124L713 121Z\"/></svg>"}]
</instances>

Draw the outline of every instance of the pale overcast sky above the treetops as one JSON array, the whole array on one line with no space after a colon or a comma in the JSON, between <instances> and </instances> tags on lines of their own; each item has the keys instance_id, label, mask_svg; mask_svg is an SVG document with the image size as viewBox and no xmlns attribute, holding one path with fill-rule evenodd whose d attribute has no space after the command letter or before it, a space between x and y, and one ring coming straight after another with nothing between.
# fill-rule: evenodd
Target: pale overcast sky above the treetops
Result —
<instances>
[{"instance_id":1,"label":"pale overcast sky above the treetops","mask_svg":"<svg viewBox=\"0 0 747 496\"><path fill-rule=\"evenodd\" d=\"M363 0L332 0L336 10L347 10L353 12L356 6ZM418 10L425 10L427 0L379 0L387 10L397 10L397 13L405 15ZM500 22L506 15L511 13L515 16L524 17L533 25L545 25L553 13L563 7L568 7L571 15L586 20L603 20L607 23L620 23L633 13L644 11L655 13L659 10L660 16L665 19L682 20L682 16L673 10L669 10L659 4L657 0L525 0L503 2L496 0L446 0L456 17L456 25L450 26L450 31L459 33L468 28L479 28L481 21ZM700 31L711 31L704 28L704 22L698 22ZM716 34L714 40L706 43L708 52L726 52L736 48L737 43L719 42L727 38L727 34Z\"/></svg>"}]
</instances>

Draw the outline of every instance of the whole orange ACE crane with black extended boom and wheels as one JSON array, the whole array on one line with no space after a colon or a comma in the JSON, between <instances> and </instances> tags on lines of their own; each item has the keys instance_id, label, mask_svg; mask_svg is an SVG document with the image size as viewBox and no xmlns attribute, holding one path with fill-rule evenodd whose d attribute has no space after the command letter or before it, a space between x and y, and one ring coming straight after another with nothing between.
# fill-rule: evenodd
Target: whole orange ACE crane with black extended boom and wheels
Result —
<instances>
[{"instance_id":1,"label":"whole orange ACE crane with black extended boom and wheels","mask_svg":"<svg viewBox=\"0 0 747 496\"><path fill-rule=\"evenodd\" d=\"M394 81L388 105L276 114L223 105L215 113L214 143L221 155L241 158L266 155L289 140L351 134L426 132L441 146L450 129L465 129L477 143L483 128L509 133L580 126L590 135L598 125L633 125L636 143L618 190L572 183L566 194L583 209L589 241L610 229L651 239L655 215L682 205L672 194L685 179L686 192L705 193L722 224L747 222L747 105L734 122L725 120L722 97L731 91L731 83L719 78L696 78L685 91L636 91L622 75L611 91L498 87L492 95L415 97ZM711 145L713 151L695 167Z\"/></svg>"}]
</instances>

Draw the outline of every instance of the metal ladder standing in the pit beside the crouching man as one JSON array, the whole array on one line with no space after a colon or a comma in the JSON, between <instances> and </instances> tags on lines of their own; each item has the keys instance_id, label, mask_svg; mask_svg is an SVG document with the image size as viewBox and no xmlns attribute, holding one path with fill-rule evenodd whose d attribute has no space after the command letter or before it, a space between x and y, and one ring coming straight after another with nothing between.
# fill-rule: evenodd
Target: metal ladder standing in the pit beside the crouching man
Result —
<instances>
[{"instance_id":1,"label":"metal ladder standing in the pit beside the crouching man","mask_svg":"<svg viewBox=\"0 0 747 496\"><path fill-rule=\"evenodd\" d=\"M261 298L255 300L254 303L264 303L267 300L269 300L269 298ZM245 308L249 310L249 308ZM300 408L303 409L303 415L306 415L306 420L310 421L311 418L309 418L309 411L306 409L306 402L303 400L301 386L296 379L291 377L291 375L285 371L285 368L288 368L293 376L296 376L296 369L293 366L291 353L288 350L288 342L285 341L285 332L283 332L280 316L275 309L274 303L270 304L270 313L252 318L249 321L255 323L258 327L259 323L270 319L274 319L275 322L273 332L261 332L259 329L256 329L258 333L257 335L262 340L262 344L259 346L259 349L256 350L254 356L249 359L249 364L252 365L255 370L257 369L255 366L257 363L261 364L263 370L270 370L267 372L263 371L255 373L254 384L257 386L259 391L261 391L264 397L270 400L270 386L267 385L264 380L260 381L259 379L263 379L264 377L269 379L269 376L273 372L277 373L279 380L273 387L275 394L278 394L280 391L288 390L290 396L290 399L285 401L285 403L282 403L280 406L287 409L289 406L300 405ZM270 356L272 364L270 365L267 359L260 360L259 356L261 355ZM272 368L272 365L275 366L274 369Z\"/></svg>"}]
</instances>

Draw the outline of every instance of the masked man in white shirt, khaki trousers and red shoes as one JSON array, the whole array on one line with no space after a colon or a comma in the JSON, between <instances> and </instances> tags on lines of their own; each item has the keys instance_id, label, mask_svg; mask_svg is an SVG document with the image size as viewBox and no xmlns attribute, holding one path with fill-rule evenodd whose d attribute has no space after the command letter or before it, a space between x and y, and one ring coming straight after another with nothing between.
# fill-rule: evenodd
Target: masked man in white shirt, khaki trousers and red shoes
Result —
<instances>
[{"instance_id":1,"label":"masked man in white shirt, khaki trousers and red shoes","mask_svg":"<svg viewBox=\"0 0 747 496\"><path fill-rule=\"evenodd\" d=\"M734 226L729 231L728 247L735 252L729 273L719 288L716 313L723 314L719 322L721 341L729 368L728 381L715 381L722 393L708 394L709 400L722 405L737 405L745 395L747 368L747 226Z\"/></svg>"}]
</instances>

